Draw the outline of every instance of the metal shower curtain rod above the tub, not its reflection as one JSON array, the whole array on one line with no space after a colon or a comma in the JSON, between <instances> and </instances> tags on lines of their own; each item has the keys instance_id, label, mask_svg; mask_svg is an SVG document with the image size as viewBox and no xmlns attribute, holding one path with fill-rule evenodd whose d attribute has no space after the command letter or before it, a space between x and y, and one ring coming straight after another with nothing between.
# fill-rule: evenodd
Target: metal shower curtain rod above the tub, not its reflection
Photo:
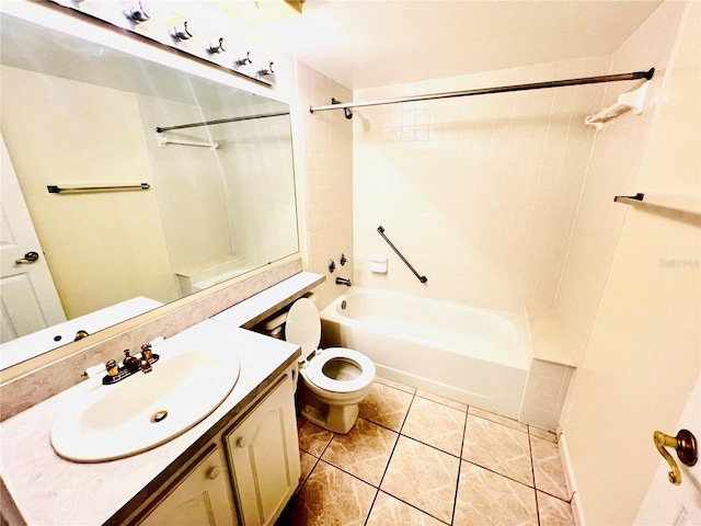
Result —
<instances>
[{"instance_id":1,"label":"metal shower curtain rod above the tub, not its reflection","mask_svg":"<svg viewBox=\"0 0 701 526\"><path fill-rule=\"evenodd\" d=\"M650 80L653 78L653 75L655 75L655 68L651 68L648 71L633 71L630 73L605 75L601 77L583 77L579 79L552 80L549 82L535 82L531 84L512 84L512 85L501 85L497 88L480 88L476 90L448 91L444 93L432 93L427 95L400 96L397 99L386 99L383 101L346 102L346 103L329 104L326 106L309 106L309 113L325 112L327 110L347 110L352 107L398 104L401 102L417 102L417 101L432 101L435 99L451 99L455 96L486 95L490 93L506 93L509 91L540 90L543 88L560 88L564 85L596 84L599 82L618 82L621 80L639 80L639 79Z\"/></svg>"}]
</instances>

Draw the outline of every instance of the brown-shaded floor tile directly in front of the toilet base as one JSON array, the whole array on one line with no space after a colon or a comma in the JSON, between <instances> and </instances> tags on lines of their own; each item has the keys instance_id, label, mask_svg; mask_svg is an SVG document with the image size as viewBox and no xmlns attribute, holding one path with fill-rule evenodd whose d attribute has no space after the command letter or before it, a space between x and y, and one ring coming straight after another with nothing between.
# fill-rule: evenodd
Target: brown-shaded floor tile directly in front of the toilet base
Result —
<instances>
[{"instance_id":1,"label":"brown-shaded floor tile directly in front of the toilet base","mask_svg":"<svg viewBox=\"0 0 701 526\"><path fill-rule=\"evenodd\" d=\"M358 419L345 435L335 435L322 460L379 487L399 435L367 420Z\"/></svg>"}]
</instances>

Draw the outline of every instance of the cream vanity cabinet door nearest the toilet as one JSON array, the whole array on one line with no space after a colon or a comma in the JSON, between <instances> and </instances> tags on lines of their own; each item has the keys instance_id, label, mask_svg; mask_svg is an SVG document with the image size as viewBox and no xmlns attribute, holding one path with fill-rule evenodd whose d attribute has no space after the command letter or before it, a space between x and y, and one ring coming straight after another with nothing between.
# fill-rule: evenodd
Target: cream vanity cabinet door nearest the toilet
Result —
<instances>
[{"instance_id":1,"label":"cream vanity cabinet door nearest the toilet","mask_svg":"<svg viewBox=\"0 0 701 526\"><path fill-rule=\"evenodd\" d=\"M300 474L289 375L225 435L225 444L243 524L273 524L297 489Z\"/></svg>"}]
</instances>

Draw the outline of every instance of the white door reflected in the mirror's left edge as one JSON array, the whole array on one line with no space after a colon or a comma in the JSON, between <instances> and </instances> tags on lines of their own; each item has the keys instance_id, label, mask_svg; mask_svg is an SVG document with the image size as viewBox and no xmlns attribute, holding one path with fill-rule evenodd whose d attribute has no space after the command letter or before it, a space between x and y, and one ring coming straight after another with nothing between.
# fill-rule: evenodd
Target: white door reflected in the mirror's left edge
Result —
<instances>
[{"instance_id":1,"label":"white door reflected in the mirror's left edge","mask_svg":"<svg viewBox=\"0 0 701 526\"><path fill-rule=\"evenodd\" d=\"M66 315L2 136L0 142L0 343L4 343L66 321ZM36 261L30 261L32 252L38 255Z\"/></svg>"}]
</instances>

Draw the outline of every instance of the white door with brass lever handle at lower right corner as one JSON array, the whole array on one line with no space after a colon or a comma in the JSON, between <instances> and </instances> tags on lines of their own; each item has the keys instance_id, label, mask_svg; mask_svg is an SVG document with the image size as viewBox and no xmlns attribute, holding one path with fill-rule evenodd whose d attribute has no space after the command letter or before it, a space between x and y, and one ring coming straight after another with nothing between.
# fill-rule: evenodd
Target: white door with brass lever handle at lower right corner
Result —
<instances>
[{"instance_id":1,"label":"white door with brass lever handle at lower right corner","mask_svg":"<svg viewBox=\"0 0 701 526\"><path fill-rule=\"evenodd\" d=\"M701 441L701 377L687 400L687 407L674 430L659 430L676 436L679 430L689 430ZM653 445L652 437L650 447ZM669 465L659 456L659 467L647 494L637 511L636 525L668 524L691 526L701 524L701 460L693 467L681 464L674 450L668 451L681 472L681 484L674 485L667 479Z\"/></svg>"}]
</instances>

